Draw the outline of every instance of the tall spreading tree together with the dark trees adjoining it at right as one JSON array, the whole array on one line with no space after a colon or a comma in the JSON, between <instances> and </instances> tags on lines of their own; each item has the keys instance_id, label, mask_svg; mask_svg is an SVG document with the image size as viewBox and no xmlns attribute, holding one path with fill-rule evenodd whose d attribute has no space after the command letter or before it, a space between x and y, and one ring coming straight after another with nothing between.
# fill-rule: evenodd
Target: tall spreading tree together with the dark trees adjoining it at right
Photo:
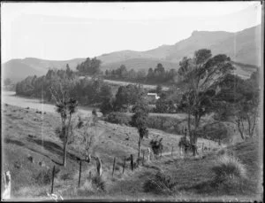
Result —
<instances>
[{"instance_id":1,"label":"tall spreading tree together with the dark trees adjoining it at right","mask_svg":"<svg viewBox=\"0 0 265 203\"><path fill-rule=\"evenodd\" d=\"M195 51L193 58L183 58L179 66L178 87L183 94L178 109L187 113L191 144L196 145L201 117L208 113L216 113L223 121L231 119L241 129L242 121L248 121L251 135L259 101L256 82L232 74L231 59L224 54L213 57L207 49Z\"/></svg>"}]
</instances>

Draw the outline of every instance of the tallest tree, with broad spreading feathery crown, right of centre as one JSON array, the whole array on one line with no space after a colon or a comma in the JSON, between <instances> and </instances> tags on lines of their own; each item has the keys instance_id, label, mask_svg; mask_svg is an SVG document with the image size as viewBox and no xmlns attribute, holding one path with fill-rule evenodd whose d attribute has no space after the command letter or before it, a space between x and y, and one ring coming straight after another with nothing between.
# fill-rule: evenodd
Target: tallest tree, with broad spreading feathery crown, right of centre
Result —
<instances>
[{"instance_id":1,"label":"tallest tree, with broad spreading feathery crown, right of centre","mask_svg":"<svg viewBox=\"0 0 265 203\"><path fill-rule=\"evenodd\" d=\"M218 84L234 68L231 59L224 54L212 57L211 51L202 49L194 52L193 59L184 58L179 62L178 79L185 92L179 108L188 114L188 133L191 144L196 145L201 117L215 111ZM193 115L193 130L191 116ZM193 147L195 155L195 147Z\"/></svg>"}]
</instances>

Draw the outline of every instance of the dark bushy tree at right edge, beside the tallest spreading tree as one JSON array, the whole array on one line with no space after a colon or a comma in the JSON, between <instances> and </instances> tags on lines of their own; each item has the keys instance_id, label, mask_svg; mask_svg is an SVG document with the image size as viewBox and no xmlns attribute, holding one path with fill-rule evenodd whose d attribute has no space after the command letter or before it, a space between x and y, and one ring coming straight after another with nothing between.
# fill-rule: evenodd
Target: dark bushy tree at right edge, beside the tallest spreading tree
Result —
<instances>
[{"instance_id":1,"label":"dark bushy tree at right edge, beside the tallest spreading tree","mask_svg":"<svg viewBox=\"0 0 265 203\"><path fill-rule=\"evenodd\" d=\"M257 83L252 78L243 80L237 75L228 74L220 85L222 90L216 99L222 99L223 102L216 105L216 118L235 124L243 140L246 138L246 129L248 136L253 137L259 106Z\"/></svg>"}]
</instances>

